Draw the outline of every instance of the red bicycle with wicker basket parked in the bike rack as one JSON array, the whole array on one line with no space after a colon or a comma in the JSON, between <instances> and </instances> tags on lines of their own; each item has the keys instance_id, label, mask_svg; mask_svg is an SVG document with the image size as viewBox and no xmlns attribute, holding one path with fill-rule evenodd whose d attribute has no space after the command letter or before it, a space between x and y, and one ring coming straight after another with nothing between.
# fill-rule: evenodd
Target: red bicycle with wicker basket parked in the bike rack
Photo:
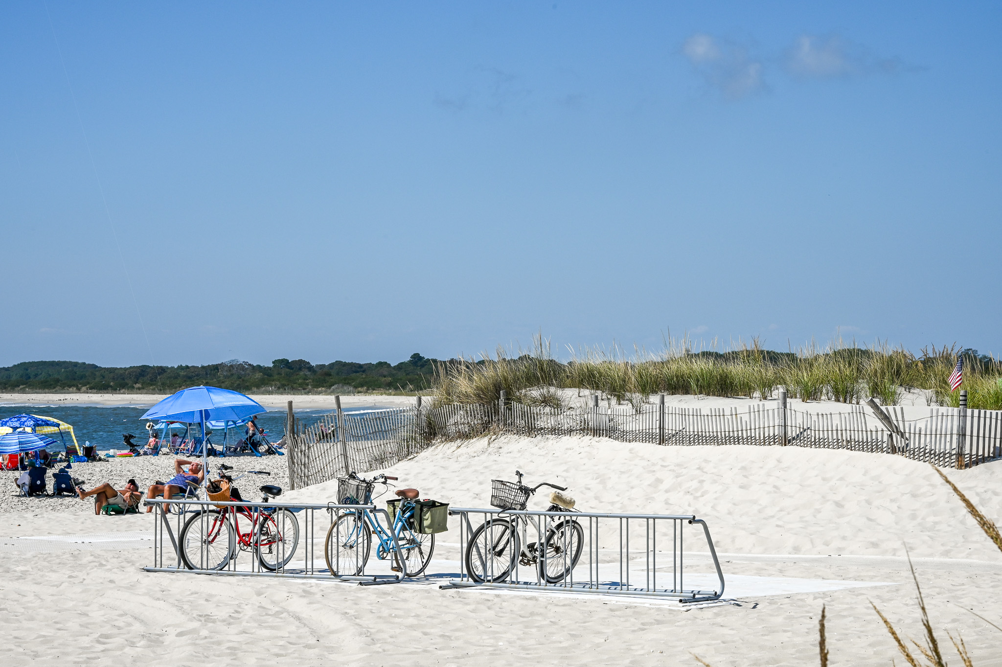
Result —
<instances>
[{"instance_id":1,"label":"red bicycle with wicker basket parked in the bike rack","mask_svg":"<svg viewBox=\"0 0 1002 667\"><path fill-rule=\"evenodd\" d=\"M232 478L231 466L219 465L219 481L228 482L230 494L240 500L232 484L247 475L271 475L250 470ZM261 487L262 503L282 494L282 487ZM234 493L235 492L235 493ZM221 509L195 512L184 522L180 533L181 559L189 570L221 570L239 551L257 555L266 570L279 570L292 560L300 542L300 522L286 508L226 505Z\"/></svg>"}]
</instances>

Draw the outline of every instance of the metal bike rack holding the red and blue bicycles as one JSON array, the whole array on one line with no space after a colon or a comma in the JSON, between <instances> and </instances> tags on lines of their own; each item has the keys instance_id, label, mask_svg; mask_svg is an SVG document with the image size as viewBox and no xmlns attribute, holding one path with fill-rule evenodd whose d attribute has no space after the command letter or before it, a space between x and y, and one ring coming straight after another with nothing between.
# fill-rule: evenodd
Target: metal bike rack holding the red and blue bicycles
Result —
<instances>
[{"instance_id":1,"label":"metal bike rack holding the red and blue bicycles","mask_svg":"<svg viewBox=\"0 0 1002 667\"><path fill-rule=\"evenodd\" d=\"M146 503L153 506L153 512L157 515L153 524L153 564L143 568L146 572L171 572L178 574L222 576L229 575L240 577L275 577L279 579L340 580L358 582L363 586L394 584L403 581L404 579L403 571L400 571L395 575L367 575L365 574L365 569L363 568L362 574L358 575L333 575L327 568L327 562L323 553L324 538L326 537L327 530L330 526L337 522L339 518L344 516L346 512L366 510L373 514L382 514L387 521L387 525L392 525L389 513L386 510L378 509L375 505L336 505L334 503L326 505L306 505L301 503L276 502L253 503L243 501L223 502L211 500L164 500L160 498L146 499ZM167 506L172 506L173 512L168 513L166 511ZM264 568L259 560L259 545L255 544L254 538L252 537L249 540L250 544L242 544L239 540L239 536L236 536L232 550L232 557L221 569L192 569L186 567L181 556L181 545L179 544L181 529L183 528L185 521L191 516L199 517L199 521L203 522L200 528L202 529L202 534L204 534L209 519L209 515L206 511L218 509L220 507L247 508L250 510L252 518L259 516L264 509L285 508L292 511L295 513L297 517L296 520L299 525L299 540L297 541L295 551L291 554L287 553L285 551L287 549L285 542L281 543L280 551L277 554L279 567L276 570L269 570ZM174 516L173 522L168 519L171 515ZM284 532L287 528L291 528L283 525L286 514L279 513L279 530ZM246 516L235 515L234 517L234 515L230 515L230 517L231 518L229 520L237 522L237 526L239 526L240 522L242 522L242 524L247 528L252 528L252 519L248 519ZM173 527L171 527L171 523L174 524ZM319 538L319 549L317 534L318 529L322 531ZM397 542L397 536L393 534L392 538L396 553L402 553L400 544ZM241 559L240 556L242 554L246 554L248 558ZM200 556L201 564L208 562L207 545L202 545ZM289 557L289 562L284 563L284 561L287 560L287 556ZM397 565L400 566L401 564L398 562ZM357 569L357 567L355 569ZM402 567L401 570L403 570Z\"/></svg>"}]
</instances>

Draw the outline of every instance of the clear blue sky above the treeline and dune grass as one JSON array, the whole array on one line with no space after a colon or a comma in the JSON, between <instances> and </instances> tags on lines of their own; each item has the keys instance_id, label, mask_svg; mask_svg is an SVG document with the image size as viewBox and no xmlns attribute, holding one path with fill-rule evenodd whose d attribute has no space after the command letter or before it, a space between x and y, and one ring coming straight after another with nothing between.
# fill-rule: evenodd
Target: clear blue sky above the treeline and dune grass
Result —
<instances>
[{"instance_id":1,"label":"clear blue sky above the treeline and dune grass","mask_svg":"<svg viewBox=\"0 0 1002 667\"><path fill-rule=\"evenodd\" d=\"M4 3L0 365L538 330L1002 352L1000 28L988 2Z\"/></svg>"}]
</instances>

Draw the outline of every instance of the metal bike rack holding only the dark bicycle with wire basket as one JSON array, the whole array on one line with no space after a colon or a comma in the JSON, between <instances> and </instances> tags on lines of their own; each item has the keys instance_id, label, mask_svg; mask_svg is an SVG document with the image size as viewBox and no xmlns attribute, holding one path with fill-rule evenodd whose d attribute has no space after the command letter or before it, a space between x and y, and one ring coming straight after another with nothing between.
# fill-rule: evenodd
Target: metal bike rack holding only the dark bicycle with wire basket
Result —
<instances>
[{"instance_id":1,"label":"metal bike rack holding only the dark bicycle with wire basket","mask_svg":"<svg viewBox=\"0 0 1002 667\"><path fill-rule=\"evenodd\" d=\"M586 593L604 595L626 595L638 597L675 598L680 602L709 602L723 595L723 573L713 548L706 522L691 515L657 514L608 514L598 512L535 512L480 508L450 508L450 514L460 518L461 575L441 588L497 588L554 593ZM516 554L514 566L505 573L507 563L497 563L504 544L499 540L489 544L490 530L481 533L471 543L471 536L478 529L470 521L471 515L483 517L484 523L497 522L505 517L514 520L524 518L527 524L527 542L544 544L546 536L554 526L568 520L576 521L582 529L583 544L576 564L569 555L572 548L564 548L555 559L560 572L566 573L560 581L550 582L544 577L538 565L531 563L533 553L528 545L520 544L520 554ZM510 525L510 524L509 524ZM684 529L694 525L701 527L719 587L716 590L696 590L685 588L683 546ZM519 531L521 533L521 531ZM566 532L564 532L566 535ZM521 540L521 538L519 538ZM565 541L568 538L561 538ZM532 542L534 540L534 542ZM691 540L691 538L690 538ZM568 545L570 547L570 545ZM467 551L471 562L481 566L480 571L490 573L497 581L476 581L467 568ZM509 554L510 556L511 554ZM530 561L519 562L519 557Z\"/></svg>"}]
</instances>

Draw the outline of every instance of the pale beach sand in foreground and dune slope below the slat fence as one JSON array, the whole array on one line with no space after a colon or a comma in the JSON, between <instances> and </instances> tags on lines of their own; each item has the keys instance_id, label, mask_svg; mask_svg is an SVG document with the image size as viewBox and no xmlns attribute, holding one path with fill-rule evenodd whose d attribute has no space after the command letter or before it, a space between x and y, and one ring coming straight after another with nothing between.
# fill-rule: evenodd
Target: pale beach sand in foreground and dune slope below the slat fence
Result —
<instances>
[{"instance_id":1,"label":"pale beach sand in foreground and dune slope below the slat fence","mask_svg":"<svg viewBox=\"0 0 1002 667\"><path fill-rule=\"evenodd\" d=\"M442 444L387 472L420 488L423 497L478 506L486 504L489 480L512 479L515 468L530 482L566 484L582 509L704 518L731 587L743 592L727 604L685 611L603 596L151 574L140 570L150 558L141 539L149 517L93 517L39 505L34 512L0 513L7 562L0 580L7 641L0 659L697 665L692 651L712 665L814 665L824 604L831 664L902 664L868 600L919 637L914 586L902 558L907 545L941 642L949 646L946 630L961 631L975 665L1002 665L1002 632L966 611L1002 619L1002 554L924 464L794 447L502 438ZM1002 467L948 475L986 514L1002 517ZM318 485L288 497L326 501L331 492ZM456 539L457 531L441 536L436 558L456 558L458 549L446 546ZM834 590L797 592L817 580ZM789 585L776 587L777 581ZM95 601L100 608L88 612L85 605ZM952 653L950 663L961 664Z\"/></svg>"}]
</instances>

